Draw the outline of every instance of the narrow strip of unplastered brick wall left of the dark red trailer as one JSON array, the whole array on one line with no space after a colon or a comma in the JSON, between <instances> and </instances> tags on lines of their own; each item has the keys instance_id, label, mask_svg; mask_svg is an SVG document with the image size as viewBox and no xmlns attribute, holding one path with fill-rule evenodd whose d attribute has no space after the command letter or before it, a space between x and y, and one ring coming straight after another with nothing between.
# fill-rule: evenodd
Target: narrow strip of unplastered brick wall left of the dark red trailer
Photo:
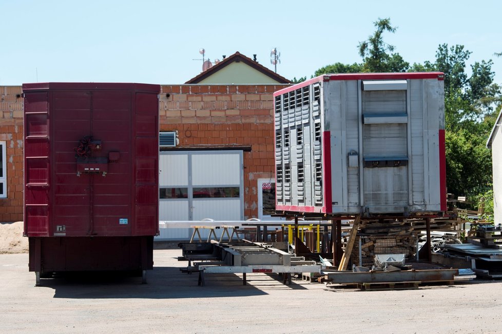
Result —
<instances>
[{"instance_id":1,"label":"narrow strip of unplastered brick wall left of the dark red trailer","mask_svg":"<svg viewBox=\"0 0 502 334\"><path fill-rule=\"evenodd\" d=\"M23 98L21 86L0 86L0 142L6 143L7 198L0 222L23 220Z\"/></svg>"}]
</instances>

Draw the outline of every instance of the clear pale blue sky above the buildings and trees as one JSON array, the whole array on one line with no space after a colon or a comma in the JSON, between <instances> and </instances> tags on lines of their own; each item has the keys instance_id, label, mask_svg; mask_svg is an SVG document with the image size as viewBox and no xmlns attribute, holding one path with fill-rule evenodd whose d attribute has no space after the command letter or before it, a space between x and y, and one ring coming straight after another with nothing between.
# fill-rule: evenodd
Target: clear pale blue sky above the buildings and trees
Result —
<instances>
[{"instance_id":1,"label":"clear pale blue sky above the buildings and trees","mask_svg":"<svg viewBox=\"0 0 502 334\"><path fill-rule=\"evenodd\" d=\"M357 45L390 17L384 40L404 60L433 61L439 44L462 44L470 62L492 59L502 84L499 1L13 1L0 0L0 85L27 82L180 84L206 58L235 51L277 72L310 77L335 62L360 62Z\"/></svg>"}]
</instances>

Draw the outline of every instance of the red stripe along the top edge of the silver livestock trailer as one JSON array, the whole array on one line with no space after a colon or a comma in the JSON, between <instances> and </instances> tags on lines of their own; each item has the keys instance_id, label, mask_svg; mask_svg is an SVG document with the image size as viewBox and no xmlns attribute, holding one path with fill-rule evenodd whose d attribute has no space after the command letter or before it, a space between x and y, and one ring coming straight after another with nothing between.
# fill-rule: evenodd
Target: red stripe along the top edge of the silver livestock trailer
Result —
<instances>
[{"instance_id":1,"label":"red stripe along the top edge of the silver livestock trailer","mask_svg":"<svg viewBox=\"0 0 502 334\"><path fill-rule=\"evenodd\" d=\"M445 80L443 72L396 72L396 73L340 73L340 74L325 74L299 84L289 86L274 92L274 97L296 90L298 88L308 86L315 82L331 81L331 80L392 80L392 79L437 79Z\"/></svg>"}]
</instances>

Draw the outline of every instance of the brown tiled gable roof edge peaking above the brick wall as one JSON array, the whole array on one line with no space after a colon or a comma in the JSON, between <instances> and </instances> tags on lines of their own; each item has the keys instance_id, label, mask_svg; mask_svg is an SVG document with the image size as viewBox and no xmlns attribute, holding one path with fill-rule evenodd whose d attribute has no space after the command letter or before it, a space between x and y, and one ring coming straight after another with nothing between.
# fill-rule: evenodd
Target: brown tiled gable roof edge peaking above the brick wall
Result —
<instances>
[{"instance_id":1,"label":"brown tiled gable roof edge peaking above the brick wall","mask_svg":"<svg viewBox=\"0 0 502 334\"><path fill-rule=\"evenodd\" d=\"M241 54L239 51L236 53L230 55L229 57L223 59L220 61L218 64L215 64L213 67L208 68L207 70L203 71L200 73L198 76L188 80L185 82L185 84L197 84L203 81L204 79L214 75L216 72L220 71L221 69L225 68L226 66L233 64L233 63L239 63L242 62L253 69L255 69L258 72L261 72L263 75L271 78L274 81L277 81L277 83L281 84L290 84L291 81L288 79L278 75L276 72L269 70L265 66L259 64L257 61L254 61L245 55ZM258 83L258 82L257 82Z\"/></svg>"}]
</instances>

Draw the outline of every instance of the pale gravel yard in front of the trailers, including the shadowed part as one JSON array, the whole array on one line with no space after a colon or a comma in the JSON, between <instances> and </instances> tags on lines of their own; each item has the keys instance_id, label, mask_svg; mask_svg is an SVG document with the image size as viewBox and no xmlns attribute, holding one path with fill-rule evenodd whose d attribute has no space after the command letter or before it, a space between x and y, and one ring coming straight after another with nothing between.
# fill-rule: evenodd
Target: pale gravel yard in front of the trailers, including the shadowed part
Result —
<instances>
[{"instance_id":1,"label":"pale gravel yard in front of the trailers, including the shadowed part","mask_svg":"<svg viewBox=\"0 0 502 334\"><path fill-rule=\"evenodd\" d=\"M502 332L502 283L357 291L266 274L183 274L181 250L154 250L140 277L86 275L34 287L28 254L0 255L0 332Z\"/></svg>"}]
</instances>

